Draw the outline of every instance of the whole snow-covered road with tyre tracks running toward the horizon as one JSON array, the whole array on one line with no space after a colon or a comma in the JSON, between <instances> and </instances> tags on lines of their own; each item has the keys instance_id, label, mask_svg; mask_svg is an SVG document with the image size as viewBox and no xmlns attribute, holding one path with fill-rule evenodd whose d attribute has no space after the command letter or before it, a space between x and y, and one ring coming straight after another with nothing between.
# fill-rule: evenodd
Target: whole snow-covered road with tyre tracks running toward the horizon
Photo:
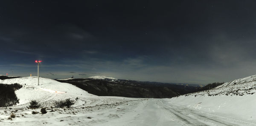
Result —
<instances>
[{"instance_id":1,"label":"whole snow-covered road with tyre tracks running toward the horizon","mask_svg":"<svg viewBox=\"0 0 256 126\"><path fill-rule=\"evenodd\" d=\"M119 118L94 126L256 126L253 122L201 112L166 99L140 100L136 106L121 109L121 113L114 112Z\"/></svg>"}]
</instances>

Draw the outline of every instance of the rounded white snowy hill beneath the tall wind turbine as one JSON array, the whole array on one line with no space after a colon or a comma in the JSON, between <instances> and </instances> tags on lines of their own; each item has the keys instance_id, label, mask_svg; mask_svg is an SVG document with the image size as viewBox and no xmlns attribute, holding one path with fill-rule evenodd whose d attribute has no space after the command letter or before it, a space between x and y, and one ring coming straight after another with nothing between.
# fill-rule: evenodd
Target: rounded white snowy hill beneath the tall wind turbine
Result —
<instances>
[{"instance_id":1,"label":"rounded white snowy hill beneath the tall wind turbine","mask_svg":"<svg viewBox=\"0 0 256 126\"><path fill-rule=\"evenodd\" d=\"M0 83L13 84L19 83L23 87L15 94L20 103L23 105L29 103L31 100L37 100L39 102L48 102L49 100L61 100L66 98L73 98L78 96L95 96L88 92L79 89L69 83L60 83L56 80L40 77L40 85L38 86L37 77L20 77L13 79L0 80ZM25 85L26 84L26 85Z\"/></svg>"}]
</instances>

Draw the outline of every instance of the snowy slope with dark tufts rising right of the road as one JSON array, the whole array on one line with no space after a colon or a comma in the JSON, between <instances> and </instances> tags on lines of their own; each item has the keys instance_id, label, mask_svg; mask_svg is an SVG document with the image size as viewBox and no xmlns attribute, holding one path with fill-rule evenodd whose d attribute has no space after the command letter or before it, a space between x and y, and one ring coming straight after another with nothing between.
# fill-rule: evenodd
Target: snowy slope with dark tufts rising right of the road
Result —
<instances>
[{"instance_id":1,"label":"snowy slope with dark tufts rising right of the road","mask_svg":"<svg viewBox=\"0 0 256 126\"><path fill-rule=\"evenodd\" d=\"M255 92L256 75L253 75L224 83L208 91L173 97L169 102L204 112L256 122Z\"/></svg>"}]
</instances>

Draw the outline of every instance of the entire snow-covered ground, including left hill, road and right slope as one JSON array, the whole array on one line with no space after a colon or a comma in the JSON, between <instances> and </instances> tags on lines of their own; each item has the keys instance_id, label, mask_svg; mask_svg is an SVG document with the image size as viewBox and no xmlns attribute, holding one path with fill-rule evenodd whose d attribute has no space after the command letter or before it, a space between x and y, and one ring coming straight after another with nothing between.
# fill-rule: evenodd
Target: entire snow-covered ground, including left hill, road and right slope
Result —
<instances>
[{"instance_id":1,"label":"entire snow-covered ground, including left hill, road and right slope","mask_svg":"<svg viewBox=\"0 0 256 126\"><path fill-rule=\"evenodd\" d=\"M253 83L249 78L241 79L245 83L236 83L249 88ZM225 83L227 86L209 92L171 99L143 99L93 96L68 83L47 78L40 80L40 86L36 84L37 77L0 80L0 83L23 85L15 92L21 103L12 109L0 108L0 126L256 126L255 94L221 93L237 84ZM246 88L240 89L246 92ZM52 100L69 97L79 97L73 108L50 108ZM41 114L41 108L26 109L31 99L47 107L47 113ZM39 113L33 115L32 111ZM16 117L8 119L12 112Z\"/></svg>"}]
</instances>

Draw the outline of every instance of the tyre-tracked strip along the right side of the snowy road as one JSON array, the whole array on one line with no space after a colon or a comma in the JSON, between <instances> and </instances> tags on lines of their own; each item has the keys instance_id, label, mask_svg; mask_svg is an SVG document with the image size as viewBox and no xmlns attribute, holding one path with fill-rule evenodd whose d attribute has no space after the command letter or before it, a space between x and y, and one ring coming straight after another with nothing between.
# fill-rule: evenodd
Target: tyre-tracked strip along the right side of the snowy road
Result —
<instances>
[{"instance_id":1,"label":"tyre-tracked strip along the right side of the snowy road","mask_svg":"<svg viewBox=\"0 0 256 126\"><path fill-rule=\"evenodd\" d=\"M230 117L202 112L185 106L160 101L163 108L175 115L182 126L256 126L256 123L238 120Z\"/></svg>"}]
</instances>

